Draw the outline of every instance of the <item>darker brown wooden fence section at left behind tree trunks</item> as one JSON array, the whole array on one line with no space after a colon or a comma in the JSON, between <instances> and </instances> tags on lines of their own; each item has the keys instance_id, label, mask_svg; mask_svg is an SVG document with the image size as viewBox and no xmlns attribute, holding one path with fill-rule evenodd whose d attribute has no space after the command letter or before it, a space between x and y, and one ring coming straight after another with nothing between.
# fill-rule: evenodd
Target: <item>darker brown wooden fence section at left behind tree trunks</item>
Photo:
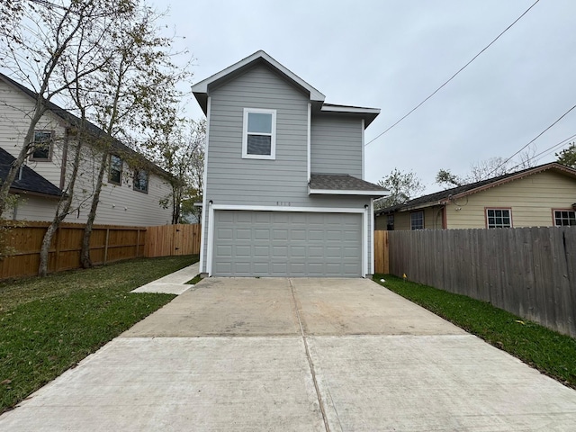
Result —
<instances>
[{"instance_id":1,"label":"darker brown wooden fence section at left behind tree trunks","mask_svg":"<svg viewBox=\"0 0 576 432\"><path fill-rule=\"evenodd\" d=\"M49 222L19 222L4 234L15 253L0 260L0 279L38 274L40 246ZM84 224L62 223L49 248L48 271L79 268ZM94 225L90 257L95 265L144 256L146 227Z\"/></svg>"}]
</instances>

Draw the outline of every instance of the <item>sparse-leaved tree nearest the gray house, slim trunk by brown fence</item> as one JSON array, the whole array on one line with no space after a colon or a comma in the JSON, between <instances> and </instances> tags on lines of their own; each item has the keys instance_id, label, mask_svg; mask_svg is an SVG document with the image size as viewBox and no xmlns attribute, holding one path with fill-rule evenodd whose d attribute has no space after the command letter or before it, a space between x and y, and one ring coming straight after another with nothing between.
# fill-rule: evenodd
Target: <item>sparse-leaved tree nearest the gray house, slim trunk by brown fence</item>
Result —
<instances>
[{"instance_id":1,"label":"sparse-leaved tree nearest the gray house, slim trunk by brown fence","mask_svg":"<svg viewBox=\"0 0 576 432\"><path fill-rule=\"evenodd\" d=\"M113 61L103 71L101 92L94 94L92 100L94 121L103 129L104 139L100 140L98 175L82 241L80 260L85 268L92 266L90 237L112 145L125 137L131 126L139 125L140 118L148 112L175 101L176 83L189 76L185 67L176 67L172 62L173 39L158 36L160 17L142 6L134 10L130 21L111 29Z\"/></svg>"}]
</instances>

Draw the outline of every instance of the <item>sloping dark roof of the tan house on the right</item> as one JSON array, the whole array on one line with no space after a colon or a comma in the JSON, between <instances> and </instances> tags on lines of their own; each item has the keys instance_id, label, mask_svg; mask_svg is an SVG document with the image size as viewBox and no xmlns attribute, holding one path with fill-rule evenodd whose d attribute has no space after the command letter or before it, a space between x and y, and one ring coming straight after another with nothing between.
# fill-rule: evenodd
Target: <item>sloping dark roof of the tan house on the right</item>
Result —
<instances>
[{"instance_id":1,"label":"sloping dark roof of the tan house on the right","mask_svg":"<svg viewBox=\"0 0 576 432\"><path fill-rule=\"evenodd\" d=\"M445 191L419 196L418 198L414 198L413 200L410 200L408 202L380 209L378 211L375 211L375 213L382 214L382 213L390 213L393 211L407 211L417 208L424 208L429 207L431 205L442 205L446 204L450 200L463 198L464 196L472 195L473 193L479 193L487 189L491 189L492 187L497 187L500 186L501 184L507 184L515 180L525 178L528 175L536 175L548 170L553 170L563 175L568 175L572 177L574 180L576 180L576 169L573 169L570 166L563 166L562 164L552 162L549 164L523 169L515 173L499 175L497 177L482 180L480 182L463 184L462 186L446 189Z\"/></svg>"}]
</instances>

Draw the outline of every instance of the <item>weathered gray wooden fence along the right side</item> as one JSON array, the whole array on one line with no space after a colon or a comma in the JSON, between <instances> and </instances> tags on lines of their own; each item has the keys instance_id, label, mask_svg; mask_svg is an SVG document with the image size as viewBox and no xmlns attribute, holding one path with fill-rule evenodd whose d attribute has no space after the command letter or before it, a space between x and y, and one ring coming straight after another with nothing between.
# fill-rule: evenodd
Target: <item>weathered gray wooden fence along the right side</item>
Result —
<instances>
[{"instance_id":1,"label":"weathered gray wooden fence along the right side","mask_svg":"<svg viewBox=\"0 0 576 432\"><path fill-rule=\"evenodd\" d=\"M390 271L576 337L576 227L390 231Z\"/></svg>"}]
</instances>

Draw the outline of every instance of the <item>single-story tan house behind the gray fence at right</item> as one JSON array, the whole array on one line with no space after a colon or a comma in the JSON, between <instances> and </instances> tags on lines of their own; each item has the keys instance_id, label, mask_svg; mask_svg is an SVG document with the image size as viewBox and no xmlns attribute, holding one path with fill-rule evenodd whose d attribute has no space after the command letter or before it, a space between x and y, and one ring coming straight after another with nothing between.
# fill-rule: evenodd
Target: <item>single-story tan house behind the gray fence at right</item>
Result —
<instances>
[{"instance_id":1,"label":"single-story tan house behind the gray fence at right","mask_svg":"<svg viewBox=\"0 0 576 432\"><path fill-rule=\"evenodd\" d=\"M557 163L420 196L375 211L376 229L576 225L576 170Z\"/></svg>"}]
</instances>

